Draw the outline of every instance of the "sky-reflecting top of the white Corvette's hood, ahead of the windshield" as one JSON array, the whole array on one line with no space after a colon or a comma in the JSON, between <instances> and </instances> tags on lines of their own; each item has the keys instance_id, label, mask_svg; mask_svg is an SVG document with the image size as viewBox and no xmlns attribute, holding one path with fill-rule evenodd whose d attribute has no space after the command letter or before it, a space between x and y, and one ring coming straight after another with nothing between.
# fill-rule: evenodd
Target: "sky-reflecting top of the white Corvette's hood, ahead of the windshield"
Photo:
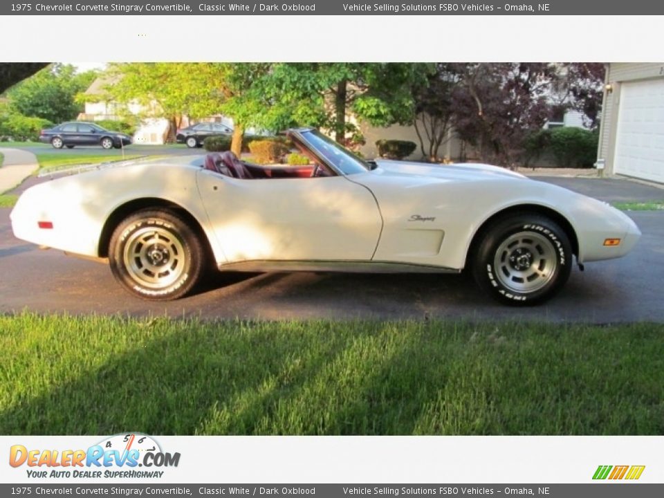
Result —
<instances>
[{"instance_id":1,"label":"sky-reflecting top of the white Corvette's hood, ahead of the windshield","mask_svg":"<svg viewBox=\"0 0 664 498\"><path fill-rule=\"evenodd\" d=\"M378 165L376 172L390 176L423 176L449 181L481 181L506 177L526 179L526 176L509 169L486 164L432 165L386 159L377 159L375 162Z\"/></svg>"}]
</instances>

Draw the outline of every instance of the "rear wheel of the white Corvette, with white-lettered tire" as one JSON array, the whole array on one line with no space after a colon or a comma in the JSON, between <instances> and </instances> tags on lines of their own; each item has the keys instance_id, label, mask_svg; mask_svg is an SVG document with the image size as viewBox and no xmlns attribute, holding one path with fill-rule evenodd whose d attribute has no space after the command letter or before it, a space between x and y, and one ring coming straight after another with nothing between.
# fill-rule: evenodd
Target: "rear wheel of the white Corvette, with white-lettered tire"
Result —
<instances>
[{"instance_id":1,"label":"rear wheel of the white Corvette, with white-lettered tire","mask_svg":"<svg viewBox=\"0 0 664 498\"><path fill-rule=\"evenodd\" d=\"M205 252L187 222L165 210L142 210L111 236L109 261L118 282L144 299L183 297L199 282Z\"/></svg>"}]
</instances>

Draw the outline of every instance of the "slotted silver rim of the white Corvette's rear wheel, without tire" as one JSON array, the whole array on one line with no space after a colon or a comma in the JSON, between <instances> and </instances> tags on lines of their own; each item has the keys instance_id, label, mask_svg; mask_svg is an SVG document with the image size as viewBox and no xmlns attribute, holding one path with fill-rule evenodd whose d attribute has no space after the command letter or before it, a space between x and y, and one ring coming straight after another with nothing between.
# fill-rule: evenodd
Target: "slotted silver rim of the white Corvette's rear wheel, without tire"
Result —
<instances>
[{"instance_id":1,"label":"slotted silver rim of the white Corvette's rear wheel, without tire","mask_svg":"<svg viewBox=\"0 0 664 498\"><path fill-rule=\"evenodd\" d=\"M185 273L187 259L181 239L163 227L141 228L124 244L124 267L141 286L166 288Z\"/></svg>"}]
</instances>

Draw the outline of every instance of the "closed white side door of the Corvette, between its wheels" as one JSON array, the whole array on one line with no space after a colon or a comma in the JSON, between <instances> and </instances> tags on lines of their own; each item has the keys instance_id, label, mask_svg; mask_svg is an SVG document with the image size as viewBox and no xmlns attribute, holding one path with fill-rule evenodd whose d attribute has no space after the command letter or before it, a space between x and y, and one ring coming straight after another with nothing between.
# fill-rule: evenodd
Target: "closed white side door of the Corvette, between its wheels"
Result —
<instances>
[{"instance_id":1,"label":"closed white side door of the Corvette, between its wheels","mask_svg":"<svg viewBox=\"0 0 664 498\"><path fill-rule=\"evenodd\" d=\"M227 261L370 261L382 219L344 176L241 180L207 169L199 192Z\"/></svg>"}]
</instances>

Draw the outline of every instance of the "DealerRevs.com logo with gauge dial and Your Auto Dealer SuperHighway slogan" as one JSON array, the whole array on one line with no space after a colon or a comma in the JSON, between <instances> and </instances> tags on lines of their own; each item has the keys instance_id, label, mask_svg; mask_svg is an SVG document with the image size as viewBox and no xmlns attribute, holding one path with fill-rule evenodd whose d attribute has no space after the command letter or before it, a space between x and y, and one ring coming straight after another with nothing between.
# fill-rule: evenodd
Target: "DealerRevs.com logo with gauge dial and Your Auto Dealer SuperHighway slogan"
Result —
<instances>
[{"instance_id":1,"label":"DealerRevs.com logo with gauge dial and Your Auto Dealer SuperHighway slogan","mask_svg":"<svg viewBox=\"0 0 664 498\"><path fill-rule=\"evenodd\" d=\"M180 453L164 452L147 434L117 434L86 450L35 449L12 445L9 464L26 467L28 477L81 479L160 478L177 467Z\"/></svg>"}]
</instances>

